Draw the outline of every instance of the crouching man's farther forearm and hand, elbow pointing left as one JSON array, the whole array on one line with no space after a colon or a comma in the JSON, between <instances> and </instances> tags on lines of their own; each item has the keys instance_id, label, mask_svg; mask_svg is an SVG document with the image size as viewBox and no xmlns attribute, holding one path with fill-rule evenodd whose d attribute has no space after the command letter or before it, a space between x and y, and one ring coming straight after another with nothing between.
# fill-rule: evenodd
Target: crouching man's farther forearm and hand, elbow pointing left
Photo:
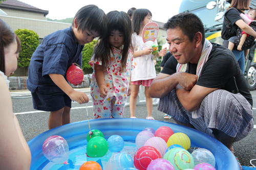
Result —
<instances>
[{"instance_id":1,"label":"crouching man's farther forearm and hand, elbow pointing left","mask_svg":"<svg viewBox=\"0 0 256 170\"><path fill-rule=\"evenodd\" d=\"M187 72L176 72L172 75L160 73L153 80L148 92L152 98L163 98L178 84L184 89L190 90L195 86L196 82L197 76L188 74Z\"/></svg>"}]
</instances>

